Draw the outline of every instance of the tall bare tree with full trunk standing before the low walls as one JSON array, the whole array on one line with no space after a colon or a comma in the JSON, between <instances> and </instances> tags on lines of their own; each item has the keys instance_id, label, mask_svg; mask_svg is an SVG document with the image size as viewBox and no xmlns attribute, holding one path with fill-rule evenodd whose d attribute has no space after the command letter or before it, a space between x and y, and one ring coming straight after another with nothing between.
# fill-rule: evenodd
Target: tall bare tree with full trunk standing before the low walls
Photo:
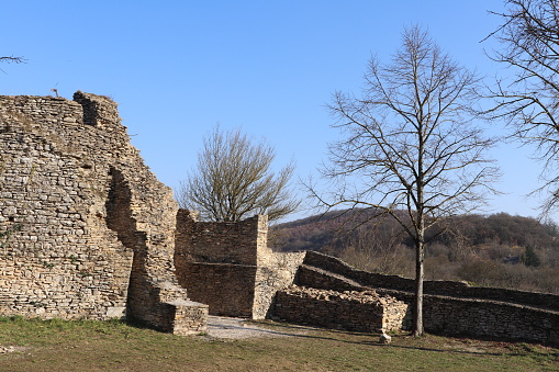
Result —
<instances>
[{"instance_id":1,"label":"tall bare tree with full trunk standing before the low walls","mask_svg":"<svg viewBox=\"0 0 559 372\"><path fill-rule=\"evenodd\" d=\"M361 98L337 92L329 110L345 138L329 147L323 176L335 183L318 195L390 215L415 246L414 335L423 334L425 245L445 216L483 202L497 176L485 150L494 139L476 125L476 76L452 61L418 26L406 29L390 64L371 58ZM484 193L482 193L484 192ZM426 230L437 234L426 236Z\"/></svg>"}]
</instances>

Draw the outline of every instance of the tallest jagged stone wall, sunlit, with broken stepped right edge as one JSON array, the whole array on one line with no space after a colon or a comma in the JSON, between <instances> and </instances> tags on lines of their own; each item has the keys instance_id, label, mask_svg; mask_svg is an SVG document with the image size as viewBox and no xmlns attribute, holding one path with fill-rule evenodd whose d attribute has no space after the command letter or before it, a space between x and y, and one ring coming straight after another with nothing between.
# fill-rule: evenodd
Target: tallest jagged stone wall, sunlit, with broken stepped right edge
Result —
<instances>
[{"instance_id":1,"label":"tallest jagged stone wall, sunlit, with broken stepped right edge","mask_svg":"<svg viewBox=\"0 0 559 372\"><path fill-rule=\"evenodd\" d=\"M0 232L19 229L0 249L0 315L126 311L187 331L168 329L180 307L169 303L187 300L174 274L178 207L120 121L105 97L0 97Z\"/></svg>"}]
</instances>

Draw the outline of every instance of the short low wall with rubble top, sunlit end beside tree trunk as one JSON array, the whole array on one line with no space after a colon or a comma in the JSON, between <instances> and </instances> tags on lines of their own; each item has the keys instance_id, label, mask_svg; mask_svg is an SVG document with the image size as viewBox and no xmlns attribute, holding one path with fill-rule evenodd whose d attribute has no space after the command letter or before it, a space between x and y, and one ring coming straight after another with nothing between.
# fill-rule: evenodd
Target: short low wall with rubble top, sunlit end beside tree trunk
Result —
<instances>
[{"instance_id":1,"label":"short low wall with rubble top, sunlit end beside tree trunk","mask_svg":"<svg viewBox=\"0 0 559 372\"><path fill-rule=\"evenodd\" d=\"M410 327L407 305L374 291L324 291L290 286L278 292L275 316L326 328L380 332Z\"/></svg>"}]
</instances>

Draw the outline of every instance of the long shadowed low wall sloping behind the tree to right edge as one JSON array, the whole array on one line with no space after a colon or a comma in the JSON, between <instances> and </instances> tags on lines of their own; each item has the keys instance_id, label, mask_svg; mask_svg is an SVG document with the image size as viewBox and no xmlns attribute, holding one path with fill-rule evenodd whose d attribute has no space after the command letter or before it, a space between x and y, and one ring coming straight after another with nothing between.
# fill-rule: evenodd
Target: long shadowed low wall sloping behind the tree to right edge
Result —
<instances>
[{"instance_id":1,"label":"long shadowed low wall sloping behind the tree to right edge","mask_svg":"<svg viewBox=\"0 0 559 372\"><path fill-rule=\"evenodd\" d=\"M380 295L414 304L413 290L402 286L405 281L413 283L412 280L360 271L317 252L309 251L304 262L297 277L299 285L339 292L373 288ZM427 332L559 345L559 311L554 307L555 295L468 288L461 282L429 284L431 293L424 294L423 304ZM494 298L489 297L491 294Z\"/></svg>"}]
</instances>

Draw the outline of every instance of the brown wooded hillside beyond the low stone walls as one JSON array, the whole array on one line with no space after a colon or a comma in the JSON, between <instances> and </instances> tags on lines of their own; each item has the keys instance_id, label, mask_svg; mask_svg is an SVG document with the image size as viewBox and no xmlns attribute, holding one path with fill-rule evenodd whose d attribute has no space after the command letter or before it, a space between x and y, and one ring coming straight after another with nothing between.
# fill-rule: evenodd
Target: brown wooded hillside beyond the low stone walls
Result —
<instances>
[{"instance_id":1,"label":"brown wooded hillside beyond the low stone walls","mask_svg":"<svg viewBox=\"0 0 559 372\"><path fill-rule=\"evenodd\" d=\"M275 226L279 251L317 250L360 269L414 277L413 243L391 218L337 211ZM506 213L463 215L426 249L426 278L559 293L559 228ZM434 234L434 232L432 232Z\"/></svg>"}]
</instances>

